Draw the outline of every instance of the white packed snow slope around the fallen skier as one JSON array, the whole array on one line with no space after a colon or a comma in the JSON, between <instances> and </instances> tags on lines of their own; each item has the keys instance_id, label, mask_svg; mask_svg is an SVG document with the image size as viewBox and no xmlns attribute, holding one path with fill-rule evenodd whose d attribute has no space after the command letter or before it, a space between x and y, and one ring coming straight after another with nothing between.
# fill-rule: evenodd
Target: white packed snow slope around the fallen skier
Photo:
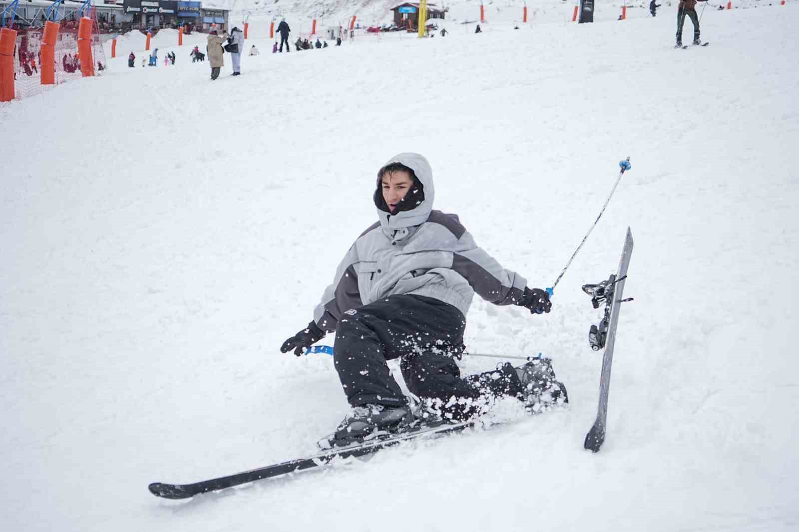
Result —
<instances>
[{"instance_id":1,"label":"white packed snow slope around the fallen skier","mask_svg":"<svg viewBox=\"0 0 799 532\"><path fill-rule=\"evenodd\" d=\"M712 44L689 50L672 15L356 38L240 77L228 56L213 82L189 46L127 68L133 36L104 76L0 109L3 529L796 530L799 7L707 10ZM630 156L551 314L477 299L468 316L473 352L551 356L570 408L506 401L489 430L154 498L310 454L344 416L332 359L278 349L402 151L538 287ZM593 455L599 313L580 287L614 272L628 226L635 300Z\"/></svg>"}]
</instances>

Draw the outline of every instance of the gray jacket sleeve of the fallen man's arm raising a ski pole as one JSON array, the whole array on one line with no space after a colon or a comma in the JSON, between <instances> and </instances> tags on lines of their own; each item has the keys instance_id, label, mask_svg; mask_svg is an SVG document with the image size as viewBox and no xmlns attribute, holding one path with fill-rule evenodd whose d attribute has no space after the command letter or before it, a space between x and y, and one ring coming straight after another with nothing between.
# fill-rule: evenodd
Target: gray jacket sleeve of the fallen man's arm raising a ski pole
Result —
<instances>
[{"instance_id":1,"label":"gray jacket sleeve of the fallen man's arm raising a ski pole","mask_svg":"<svg viewBox=\"0 0 799 532\"><path fill-rule=\"evenodd\" d=\"M453 252L452 269L458 272L484 300L495 305L517 304L527 280L516 272L506 270L483 248L479 248L469 232L458 239Z\"/></svg>"}]
</instances>

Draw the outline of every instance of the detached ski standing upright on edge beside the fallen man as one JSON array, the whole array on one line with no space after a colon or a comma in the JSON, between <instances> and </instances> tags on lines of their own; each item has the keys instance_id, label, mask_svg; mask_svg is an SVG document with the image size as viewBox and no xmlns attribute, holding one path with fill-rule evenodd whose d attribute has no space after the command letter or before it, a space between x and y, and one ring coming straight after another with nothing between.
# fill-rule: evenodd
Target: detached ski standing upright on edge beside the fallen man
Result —
<instances>
[{"instance_id":1,"label":"detached ski standing upright on edge beside the fallen man","mask_svg":"<svg viewBox=\"0 0 799 532\"><path fill-rule=\"evenodd\" d=\"M607 397L610 391L610 367L613 363L613 347L616 341L616 324L618 324L618 311L624 292L624 281L627 277L627 267L630 265L630 255L633 252L633 233L627 228L627 235L622 249L622 258L619 260L618 272L611 275L610 279L600 284L586 284L582 289L591 296L594 308L605 303L605 316L598 326L592 325L588 339L594 351L605 348L602 357L602 377L599 379L599 406L594 426L588 431L583 447L598 452L605 442L605 423L607 418Z\"/></svg>"}]
</instances>

